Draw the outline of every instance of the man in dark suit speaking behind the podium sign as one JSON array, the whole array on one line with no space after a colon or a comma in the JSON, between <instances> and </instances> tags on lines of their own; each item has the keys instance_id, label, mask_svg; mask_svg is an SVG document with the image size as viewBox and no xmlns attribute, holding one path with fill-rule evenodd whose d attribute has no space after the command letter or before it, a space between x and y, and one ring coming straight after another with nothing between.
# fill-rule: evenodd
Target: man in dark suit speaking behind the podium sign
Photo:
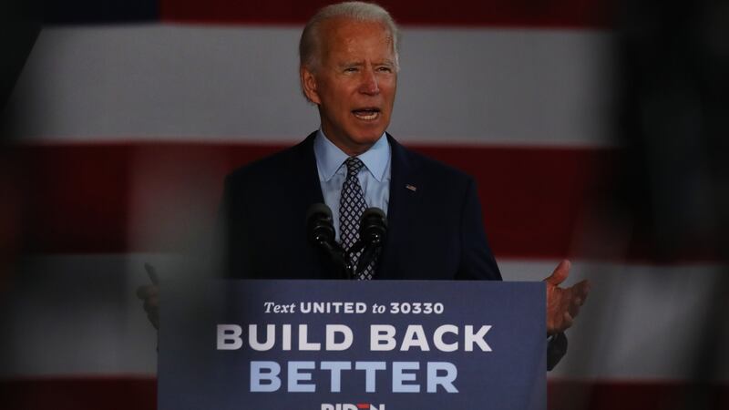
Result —
<instances>
[{"instance_id":1,"label":"man in dark suit speaking behind the podium sign","mask_svg":"<svg viewBox=\"0 0 729 410\"><path fill-rule=\"evenodd\" d=\"M397 27L378 5L330 5L304 27L301 85L319 110L321 128L226 179L221 224L230 277L334 278L324 255L307 243L303 223L309 206L324 202L344 249L357 240L365 207L387 214L382 253L359 279L501 279L473 179L385 133L395 102L397 44ZM545 280L548 333L562 344L561 332L589 292L587 282L558 287L569 270L562 261ZM139 290L155 324L156 294L156 287Z\"/></svg>"}]
</instances>

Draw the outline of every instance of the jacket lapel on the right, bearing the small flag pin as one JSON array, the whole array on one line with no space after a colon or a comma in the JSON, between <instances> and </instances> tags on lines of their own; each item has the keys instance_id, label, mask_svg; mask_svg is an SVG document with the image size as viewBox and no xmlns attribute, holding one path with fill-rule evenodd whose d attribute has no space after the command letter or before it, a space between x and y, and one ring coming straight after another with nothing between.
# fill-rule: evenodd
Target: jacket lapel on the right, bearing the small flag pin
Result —
<instances>
[{"instance_id":1,"label":"jacket lapel on the right, bearing the small flag pin","mask_svg":"<svg viewBox=\"0 0 729 410\"><path fill-rule=\"evenodd\" d=\"M403 241L407 241L408 232L413 232L418 220L420 191L423 181L416 172L416 163L408 151L389 134L392 159L390 163L390 198L387 205L387 238L377 270L377 279L398 279L402 270L398 266L397 252Z\"/></svg>"}]
</instances>

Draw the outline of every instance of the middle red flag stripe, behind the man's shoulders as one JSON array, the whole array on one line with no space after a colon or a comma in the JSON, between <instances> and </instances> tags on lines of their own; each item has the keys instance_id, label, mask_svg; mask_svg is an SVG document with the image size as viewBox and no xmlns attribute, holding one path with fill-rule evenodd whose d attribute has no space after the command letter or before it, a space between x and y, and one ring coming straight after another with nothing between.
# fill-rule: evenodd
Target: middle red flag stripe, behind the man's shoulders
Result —
<instances>
[{"instance_id":1,"label":"middle red flag stripe, behind the man's shoulders","mask_svg":"<svg viewBox=\"0 0 729 410\"><path fill-rule=\"evenodd\" d=\"M586 251L589 246L581 242L594 238L580 235L586 235L583 224L592 217L592 203L611 193L604 165L614 150L413 148L477 179L488 238L498 257L611 256ZM212 220L224 175L278 149L282 146L181 142L16 148L13 172L22 177L14 179L21 197L14 202L22 204L23 249L180 251L169 237L184 236L188 220L200 219L200 214L185 213L186 204L202 203L202 217ZM171 208L169 198L164 200L170 191L177 195ZM129 239L149 231L159 231L159 237ZM650 259L635 249L632 260ZM713 260L703 249L684 251L684 260Z\"/></svg>"}]
</instances>

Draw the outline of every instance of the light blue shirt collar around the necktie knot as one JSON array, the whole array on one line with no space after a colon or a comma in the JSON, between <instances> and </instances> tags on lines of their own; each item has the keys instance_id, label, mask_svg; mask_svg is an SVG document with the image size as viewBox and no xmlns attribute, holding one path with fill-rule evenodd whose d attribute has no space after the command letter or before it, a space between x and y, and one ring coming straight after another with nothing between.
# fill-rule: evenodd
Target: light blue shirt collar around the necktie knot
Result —
<instances>
[{"instance_id":1,"label":"light blue shirt collar around the necktie knot","mask_svg":"<svg viewBox=\"0 0 729 410\"><path fill-rule=\"evenodd\" d=\"M324 136L321 128L313 140L313 153L316 157L316 168L319 169L319 179L324 181L332 179L344 161L349 158L342 149ZM385 133L377 139L375 145L358 155L357 158L362 160L364 167L375 179L382 182L382 179L385 178L387 162L390 160L390 144L387 142Z\"/></svg>"}]
</instances>

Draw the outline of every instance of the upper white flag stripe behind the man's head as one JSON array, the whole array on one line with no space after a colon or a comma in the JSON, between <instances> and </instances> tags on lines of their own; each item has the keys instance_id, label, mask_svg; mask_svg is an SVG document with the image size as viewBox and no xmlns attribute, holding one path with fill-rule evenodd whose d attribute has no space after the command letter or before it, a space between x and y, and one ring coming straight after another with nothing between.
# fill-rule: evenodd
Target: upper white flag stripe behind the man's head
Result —
<instances>
[{"instance_id":1,"label":"upper white flag stripe behind the man's head","mask_svg":"<svg viewBox=\"0 0 729 410\"><path fill-rule=\"evenodd\" d=\"M11 99L26 141L296 141L299 27L45 28ZM438 144L609 145L607 31L404 29L390 131Z\"/></svg>"}]
</instances>

